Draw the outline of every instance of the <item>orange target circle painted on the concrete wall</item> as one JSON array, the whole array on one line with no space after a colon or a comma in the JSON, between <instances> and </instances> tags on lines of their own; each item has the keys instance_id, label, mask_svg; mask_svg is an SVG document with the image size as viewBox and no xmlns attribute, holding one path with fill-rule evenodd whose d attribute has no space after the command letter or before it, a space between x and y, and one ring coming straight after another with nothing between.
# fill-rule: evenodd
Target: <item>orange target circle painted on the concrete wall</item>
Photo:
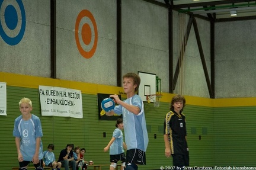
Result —
<instances>
[{"instance_id":1,"label":"orange target circle painted on the concrete wall","mask_svg":"<svg viewBox=\"0 0 256 170\"><path fill-rule=\"evenodd\" d=\"M93 25L94 28L94 44L92 45L91 50L89 50L88 52L85 51L80 43L79 40L79 24L82 20L82 18L84 17L88 17L89 20L91 20L91 23ZM82 37L82 41L88 45L91 43L92 40L92 31L91 31L91 27L89 26L88 23L85 23L84 25L82 25L82 30L81 30L81 37ZM75 24L75 40L76 40L76 46L78 47L78 51L79 53L85 57L86 59L91 58L97 48L97 44L98 44L98 30L97 30L97 25L96 25L96 21L92 15L92 13L90 11L88 11L87 9L82 10L79 14L78 17L76 18L76 24Z\"/></svg>"}]
</instances>

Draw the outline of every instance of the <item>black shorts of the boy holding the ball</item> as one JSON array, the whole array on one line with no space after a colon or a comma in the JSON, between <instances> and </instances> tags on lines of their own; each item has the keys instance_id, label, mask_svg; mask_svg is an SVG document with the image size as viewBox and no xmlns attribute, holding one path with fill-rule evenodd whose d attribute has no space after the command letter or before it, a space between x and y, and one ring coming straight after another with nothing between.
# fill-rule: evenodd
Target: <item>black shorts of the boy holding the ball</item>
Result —
<instances>
[{"instance_id":1,"label":"black shorts of the boy holding the ball","mask_svg":"<svg viewBox=\"0 0 256 170\"><path fill-rule=\"evenodd\" d=\"M130 149L126 152L127 163L135 163L139 165L146 165L146 153L140 149Z\"/></svg>"}]
</instances>

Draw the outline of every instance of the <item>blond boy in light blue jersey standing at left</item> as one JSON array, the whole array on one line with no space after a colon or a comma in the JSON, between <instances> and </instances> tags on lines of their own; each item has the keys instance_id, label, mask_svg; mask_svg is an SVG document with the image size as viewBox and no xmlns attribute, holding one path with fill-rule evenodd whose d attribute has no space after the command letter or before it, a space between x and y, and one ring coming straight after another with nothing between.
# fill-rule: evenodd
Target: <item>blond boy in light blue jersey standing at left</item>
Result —
<instances>
[{"instance_id":1,"label":"blond boy in light blue jersey standing at left","mask_svg":"<svg viewBox=\"0 0 256 170\"><path fill-rule=\"evenodd\" d=\"M41 121L39 117L30 113L33 110L30 99L22 98L19 107L21 116L15 119L12 133L17 147L19 170L26 170L30 162L33 162L36 170L41 170L43 169Z\"/></svg>"}]
</instances>

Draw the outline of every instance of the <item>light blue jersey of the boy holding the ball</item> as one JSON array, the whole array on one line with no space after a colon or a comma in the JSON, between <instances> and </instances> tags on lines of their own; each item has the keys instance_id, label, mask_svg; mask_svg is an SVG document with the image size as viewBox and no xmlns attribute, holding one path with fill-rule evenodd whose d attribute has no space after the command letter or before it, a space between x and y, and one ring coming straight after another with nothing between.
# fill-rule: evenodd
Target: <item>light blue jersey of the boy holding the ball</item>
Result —
<instances>
[{"instance_id":1,"label":"light blue jersey of the boy holding the ball","mask_svg":"<svg viewBox=\"0 0 256 170\"><path fill-rule=\"evenodd\" d=\"M140 149L146 152L146 148L148 147L148 131L146 129L143 101L139 95L135 94L133 97L124 100L124 102L140 108L140 113L138 115L131 113L121 105L114 108L116 114L123 114L127 150Z\"/></svg>"}]
</instances>

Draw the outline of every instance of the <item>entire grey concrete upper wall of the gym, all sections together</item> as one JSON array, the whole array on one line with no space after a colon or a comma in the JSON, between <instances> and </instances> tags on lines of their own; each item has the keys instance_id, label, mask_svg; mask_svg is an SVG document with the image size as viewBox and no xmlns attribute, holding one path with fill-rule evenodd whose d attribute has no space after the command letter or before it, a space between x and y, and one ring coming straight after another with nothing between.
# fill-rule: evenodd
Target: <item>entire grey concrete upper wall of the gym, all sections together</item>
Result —
<instances>
[{"instance_id":1,"label":"entire grey concrete upper wall of the gym, all sections together","mask_svg":"<svg viewBox=\"0 0 256 170\"><path fill-rule=\"evenodd\" d=\"M49 78L50 1L23 0L20 3L4 1L1 4L0 71ZM8 5L17 11L16 18L15 15L6 12L13 9ZM21 5L24 9L20 7ZM105 85L117 84L116 7L114 0L56 2L58 79ZM95 25L87 13L78 20L84 10L92 14ZM177 66L180 44L188 19L188 15L182 17L173 11L174 65L170 66L173 70ZM17 27L13 30L8 27L8 20L17 21ZM17 44L8 43L3 35L15 37L20 33L23 21L24 36ZM210 23L199 18L196 18L196 21L210 75ZM86 24L91 30L91 41L88 41L88 44L82 39L89 34L82 29ZM169 92L168 9L146 1L123 0L121 30L121 74L138 71L155 73L162 79L162 92ZM255 97L255 81L252 77L255 75L253 66L256 63L253 56L255 22L216 23L215 31L216 98ZM97 43L95 40L98 40ZM79 52L78 44L81 44L80 49L85 52L90 52L96 44L95 52L87 59ZM185 49L183 66L174 93L209 98L193 27Z\"/></svg>"}]
</instances>

